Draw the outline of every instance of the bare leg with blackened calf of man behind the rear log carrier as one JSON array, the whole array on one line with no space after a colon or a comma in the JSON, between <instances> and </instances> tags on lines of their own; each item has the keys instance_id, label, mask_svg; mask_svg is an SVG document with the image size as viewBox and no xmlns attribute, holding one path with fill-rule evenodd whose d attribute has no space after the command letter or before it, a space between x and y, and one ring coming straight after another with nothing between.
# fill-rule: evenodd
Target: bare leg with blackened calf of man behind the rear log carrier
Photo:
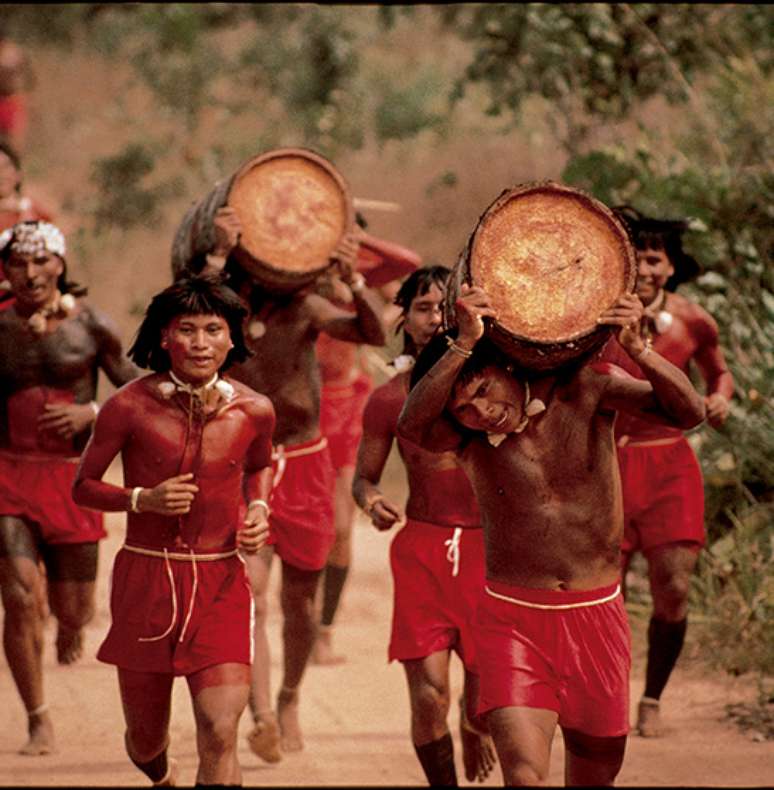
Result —
<instances>
[{"instance_id":1,"label":"bare leg with blackened calf of man behind the rear log carrier","mask_svg":"<svg viewBox=\"0 0 774 790\"><path fill-rule=\"evenodd\" d=\"M352 563L352 528L355 521L355 500L352 498L354 466L344 466L336 474L334 493L334 526L336 541L323 573L321 585L320 626L312 653L312 662L321 665L341 664L344 656L333 652L333 620L339 608L341 593Z\"/></svg>"}]
</instances>

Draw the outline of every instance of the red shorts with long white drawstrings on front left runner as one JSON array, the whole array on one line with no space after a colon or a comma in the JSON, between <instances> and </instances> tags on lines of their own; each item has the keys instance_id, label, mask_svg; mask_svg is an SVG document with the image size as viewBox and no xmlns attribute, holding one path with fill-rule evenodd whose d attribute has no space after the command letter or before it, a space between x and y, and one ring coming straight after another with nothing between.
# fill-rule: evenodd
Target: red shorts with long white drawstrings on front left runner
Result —
<instances>
[{"instance_id":1,"label":"red shorts with long white drawstrings on front left runner","mask_svg":"<svg viewBox=\"0 0 774 790\"><path fill-rule=\"evenodd\" d=\"M97 658L122 669L173 675L250 664L253 597L244 562L236 553L207 556L166 560L123 547L110 578L113 622Z\"/></svg>"}]
</instances>

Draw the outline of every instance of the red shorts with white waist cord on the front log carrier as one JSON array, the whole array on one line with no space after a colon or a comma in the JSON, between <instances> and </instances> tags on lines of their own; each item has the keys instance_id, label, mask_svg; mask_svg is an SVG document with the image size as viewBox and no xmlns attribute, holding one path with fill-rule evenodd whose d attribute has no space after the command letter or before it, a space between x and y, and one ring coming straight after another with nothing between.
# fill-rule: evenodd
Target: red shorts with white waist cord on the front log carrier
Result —
<instances>
[{"instance_id":1,"label":"red shorts with white waist cord on the front log carrier","mask_svg":"<svg viewBox=\"0 0 774 790\"><path fill-rule=\"evenodd\" d=\"M569 592L493 581L486 587L516 601L491 593L479 599L479 713L542 708L587 735L628 733L631 636L617 585Z\"/></svg>"}]
</instances>

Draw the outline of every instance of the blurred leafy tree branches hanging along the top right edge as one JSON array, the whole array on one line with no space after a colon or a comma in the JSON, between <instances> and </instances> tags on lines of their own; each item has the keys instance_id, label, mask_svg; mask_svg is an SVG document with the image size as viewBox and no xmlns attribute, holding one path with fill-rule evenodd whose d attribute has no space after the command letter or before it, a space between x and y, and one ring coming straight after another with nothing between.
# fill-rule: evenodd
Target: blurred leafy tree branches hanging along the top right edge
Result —
<instances>
[{"instance_id":1,"label":"blurred leafy tree branches hanging along the top right edge","mask_svg":"<svg viewBox=\"0 0 774 790\"><path fill-rule=\"evenodd\" d=\"M771 64L774 16L766 6L482 3L438 13L474 48L455 98L482 84L488 113L518 116L526 97L542 96L555 104L555 129L572 153L595 118L620 120L653 96L685 102L691 80L719 51L761 52L760 65Z\"/></svg>"}]
</instances>

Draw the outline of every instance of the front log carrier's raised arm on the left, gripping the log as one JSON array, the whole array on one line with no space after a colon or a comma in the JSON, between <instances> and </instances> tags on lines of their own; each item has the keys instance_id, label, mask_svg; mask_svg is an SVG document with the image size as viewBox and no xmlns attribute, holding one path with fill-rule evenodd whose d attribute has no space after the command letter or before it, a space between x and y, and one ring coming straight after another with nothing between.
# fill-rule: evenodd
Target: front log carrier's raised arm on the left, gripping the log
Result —
<instances>
[{"instance_id":1,"label":"front log carrier's raised arm on the left, gripping the log","mask_svg":"<svg viewBox=\"0 0 774 790\"><path fill-rule=\"evenodd\" d=\"M444 410L462 366L484 334L483 318L496 317L484 291L463 284L456 302L458 334L453 345L409 392L398 418L398 435L433 452L455 450L460 434Z\"/></svg>"}]
</instances>

